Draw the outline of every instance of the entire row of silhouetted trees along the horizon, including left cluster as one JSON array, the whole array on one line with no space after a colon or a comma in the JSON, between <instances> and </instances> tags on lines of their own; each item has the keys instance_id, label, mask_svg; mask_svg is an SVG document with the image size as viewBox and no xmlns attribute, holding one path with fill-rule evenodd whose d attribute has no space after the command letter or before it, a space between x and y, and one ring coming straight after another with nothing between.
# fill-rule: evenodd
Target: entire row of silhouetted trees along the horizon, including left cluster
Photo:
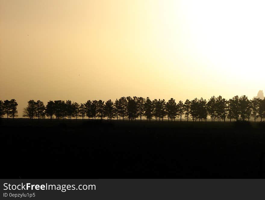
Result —
<instances>
[{"instance_id":1,"label":"entire row of silhouetted trees along the horizon, including left cluster","mask_svg":"<svg viewBox=\"0 0 265 200\"><path fill-rule=\"evenodd\" d=\"M5 114L10 117L17 116L17 102L12 99L4 102L0 101L0 115ZM235 96L232 99L226 100L222 96L211 97L208 101L206 99L195 98L194 100L186 100L176 102L171 98L167 102L164 99L151 100L149 97L121 97L114 102L108 100L106 102L102 100L88 100L86 103L76 103L70 100L55 100L48 101L47 105L40 100L29 100L28 105L24 108L23 117L30 119L42 118L47 116L52 119L55 116L56 119L68 118L77 119L81 117L84 119L107 118L107 120L123 120L128 118L129 120L136 120L137 118L142 121L142 117L150 121L151 118L155 118L155 121L175 121L176 118L182 116L186 121L192 120L193 122L207 121L207 117L210 116L211 121L226 121L230 122L232 119L238 121L250 120L254 118L256 122L257 118L262 119L265 117L265 99L253 98L249 100L245 95L239 97Z\"/></svg>"}]
</instances>

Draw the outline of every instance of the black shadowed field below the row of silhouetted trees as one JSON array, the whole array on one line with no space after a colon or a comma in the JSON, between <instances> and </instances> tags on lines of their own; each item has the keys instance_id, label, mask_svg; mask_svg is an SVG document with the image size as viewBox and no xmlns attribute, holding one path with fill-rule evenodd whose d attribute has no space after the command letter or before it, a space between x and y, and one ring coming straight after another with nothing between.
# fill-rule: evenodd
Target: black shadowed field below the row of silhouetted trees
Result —
<instances>
[{"instance_id":1,"label":"black shadowed field below the row of silhouetted trees","mask_svg":"<svg viewBox=\"0 0 265 200\"><path fill-rule=\"evenodd\" d=\"M0 178L264 178L264 123L3 119Z\"/></svg>"}]
</instances>

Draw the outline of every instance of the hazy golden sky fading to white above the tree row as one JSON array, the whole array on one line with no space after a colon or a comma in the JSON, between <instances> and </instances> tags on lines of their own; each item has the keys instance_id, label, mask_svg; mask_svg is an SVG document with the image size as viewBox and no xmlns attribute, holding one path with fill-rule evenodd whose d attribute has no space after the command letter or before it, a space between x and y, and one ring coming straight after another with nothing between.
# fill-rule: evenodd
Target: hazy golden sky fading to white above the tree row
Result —
<instances>
[{"instance_id":1,"label":"hazy golden sky fading to white above the tree row","mask_svg":"<svg viewBox=\"0 0 265 200\"><path fill-rule=\"evenodd\" d=\"M265 3L0 0L0 99L252 98Z\"/></svg>"}]
</instances>

